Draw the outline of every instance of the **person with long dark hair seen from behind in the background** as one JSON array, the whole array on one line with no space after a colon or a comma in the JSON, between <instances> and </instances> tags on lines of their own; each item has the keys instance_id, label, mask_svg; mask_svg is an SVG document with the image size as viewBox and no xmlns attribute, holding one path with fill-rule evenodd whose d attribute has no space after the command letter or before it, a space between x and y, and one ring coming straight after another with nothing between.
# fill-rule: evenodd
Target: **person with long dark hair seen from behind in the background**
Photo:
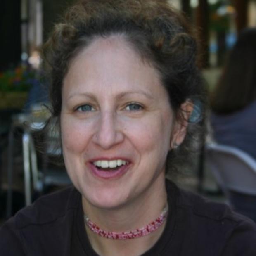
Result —
<instances>
[{"instance_id":1,"label":"person with long dark hair seen from behind in the background","mask_svg":"<svg viewBox=\"0 0 256 256\"><path fill-rule=\"evenodd\" d=\"M256 159L256 28L239 34L211 95L213 138Z\"/></svg>"}]
</instances>

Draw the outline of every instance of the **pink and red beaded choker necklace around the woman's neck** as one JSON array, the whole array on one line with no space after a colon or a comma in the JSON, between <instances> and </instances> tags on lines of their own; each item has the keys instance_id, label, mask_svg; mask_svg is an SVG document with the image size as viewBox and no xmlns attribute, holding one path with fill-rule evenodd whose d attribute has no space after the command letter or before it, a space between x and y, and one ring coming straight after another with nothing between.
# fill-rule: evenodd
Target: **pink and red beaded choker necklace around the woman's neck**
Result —
<instances>
[{"instance_id":1,"label":"pink and red beaded choker necklace around the woman's neck","mask_svg":"<svg viewBox=\"0 0 256 256\"><path fill-rule=\"evenodd\" d=\"M112 231L105 231L99 228L95 223L93 223L86 215L84 215L85 224L88 228L96 233L101 237L105 237L108 239L115 239L115 240L126 240L126 239L133 239L138 237L144 237L155 230L157 230L166 220L168 214L168 205L164 207L164 210L161 212L160 216L156 218L151 223L147 224L145 227L137 228L135 230L126 231L126 232L112 232Z\"/></svg>"}]
</instances>

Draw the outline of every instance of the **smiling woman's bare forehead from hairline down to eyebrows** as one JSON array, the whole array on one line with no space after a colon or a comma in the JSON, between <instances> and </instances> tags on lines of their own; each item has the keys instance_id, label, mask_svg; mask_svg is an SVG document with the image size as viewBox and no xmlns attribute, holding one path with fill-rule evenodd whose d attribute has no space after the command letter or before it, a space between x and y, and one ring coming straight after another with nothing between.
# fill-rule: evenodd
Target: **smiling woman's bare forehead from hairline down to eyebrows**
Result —
<instances>
[{"instance_id":1,"label":"smiling woman's bare forehead from hairline down to eyebrows","mask_svg":"<svg viewBox=\"0 0 256 256\"><path fill-rule=\"evenodd\" d=\"M161 88L158 88L161 87ZM71 60L64 78L67 90L165 90L158 71L143 61L123 36L96 38Z\"/></svg>"}]
</instances>

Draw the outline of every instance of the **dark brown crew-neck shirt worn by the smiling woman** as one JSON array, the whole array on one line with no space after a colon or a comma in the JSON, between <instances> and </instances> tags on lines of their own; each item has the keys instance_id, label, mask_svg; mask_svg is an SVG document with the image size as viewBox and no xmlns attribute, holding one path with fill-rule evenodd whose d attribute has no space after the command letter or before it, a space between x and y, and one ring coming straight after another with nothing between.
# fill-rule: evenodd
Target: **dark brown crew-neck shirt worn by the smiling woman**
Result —
<instances>
[{"instance_id":1,"label":"dark brown crew-neck shirt worn by the smiling woman","mask_svg":"<svg viewBox=\"0 0 256 256\"><path fill-rule=\"evenodd\" d=\"M253 221L169 181L166 187L166 228L143 256L256 256ZM85 232L81 194L70 187L19 211L0 228L0 255L98 256Z\"/></svg>"}]
</instances>

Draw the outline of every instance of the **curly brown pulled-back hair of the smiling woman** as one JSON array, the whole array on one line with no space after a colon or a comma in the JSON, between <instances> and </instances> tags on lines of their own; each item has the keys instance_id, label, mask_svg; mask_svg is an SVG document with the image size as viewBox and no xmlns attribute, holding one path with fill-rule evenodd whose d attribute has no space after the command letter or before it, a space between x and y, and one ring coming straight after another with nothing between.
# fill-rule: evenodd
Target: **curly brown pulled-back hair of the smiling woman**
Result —
<instances>
[{"instance_id":1,"label":"curly brown pulled-back hair of the smiling woman","mask_svg":"<svg viewBox=\"0 0 256 256\"><path fill-rule=\"evenodd\" d=\"M122 35L143 61L159 71L176 115L188 99L200 101L202 114L204 90L197 68L197 40L181 14L164 0L81 0L55 25L44 47L53 117L59 120L62 83L71 60L95 38L115 34ZM189 130L195 123L189 124Z\"/></svg>"}]
</instances>

